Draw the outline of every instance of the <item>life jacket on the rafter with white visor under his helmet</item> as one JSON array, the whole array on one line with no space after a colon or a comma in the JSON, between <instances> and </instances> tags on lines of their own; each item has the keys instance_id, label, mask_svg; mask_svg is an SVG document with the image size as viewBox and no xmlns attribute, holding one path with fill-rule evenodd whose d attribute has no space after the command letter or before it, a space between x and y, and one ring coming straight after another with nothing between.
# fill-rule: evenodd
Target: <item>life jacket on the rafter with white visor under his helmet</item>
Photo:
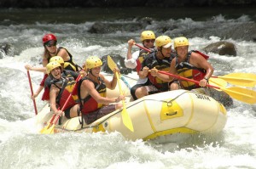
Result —
<instances>
[{"instance_id":1,"label":"life jacket on the rafter with white visor under his helmet","mask_svg":"<svg viewBox=\"0 0 256 169\"><path fill-rule=\"evenodd\" d=\"M144 59L143 67L147 66L149 69L155 67L157 70L169 71L172 59L172 55L170 58L158 59L156 57L156 51L154 51L153 53L148 54L147 58ZM160 80L160 78L152 76L150 73L148 73L148 80L160 91L168 91L169 89L168 82L164 82Z\"/></svg>"}]
</instances>

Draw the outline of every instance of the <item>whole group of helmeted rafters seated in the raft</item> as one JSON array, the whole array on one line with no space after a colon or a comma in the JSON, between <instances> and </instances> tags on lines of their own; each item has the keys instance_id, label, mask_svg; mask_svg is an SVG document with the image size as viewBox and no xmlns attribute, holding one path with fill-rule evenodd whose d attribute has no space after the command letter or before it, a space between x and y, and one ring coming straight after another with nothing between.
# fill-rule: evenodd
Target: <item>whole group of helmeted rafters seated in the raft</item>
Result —
<instances>
[{"instance_id":1,"label":"whole group of helmeted rafters seated in the raft","mask_svg":"<svg viewBox=\"0 0 256 169\"><path fill-rule=\"evenodd\" d=\"M175 51L172 50L172 39L168 36L155 38L153 31L143 31L140 39L143 47L133 54L131 49L136 42L133 39L128 41L125 58L125 66L136 68L139 76L137 84L131 87L134 100L169 90L200 89L203 90L201 93L214 90L207 88L213 73L212 65L207 61L208 56L196 50L189 51L189 41L186 37L174 39ZM73 62L73 55L66 48L56 47L55 35L46 34L43 37L43 45L43 67L25 65L26 70L44 73L44 78L38 90L33 93L32 99L44 89L42 100L49 101L50 109L55 115L65 115L67 119L82 115L87 124L122 108L123 104L119 102L124 100L125 96L106 97L107 87L114 89L117 85L118 68L113 69L113 78L109 81L101 74L102 59L99 57L89 56L80 67ZM169 74L193 79L198 83Z\"/></svg>"}]
</instances>

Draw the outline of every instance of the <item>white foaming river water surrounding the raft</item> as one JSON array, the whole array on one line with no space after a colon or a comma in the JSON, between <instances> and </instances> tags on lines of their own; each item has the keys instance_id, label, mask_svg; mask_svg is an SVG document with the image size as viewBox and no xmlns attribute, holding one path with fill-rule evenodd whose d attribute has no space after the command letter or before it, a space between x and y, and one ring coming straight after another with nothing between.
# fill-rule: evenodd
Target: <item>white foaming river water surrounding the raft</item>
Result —
<instances>
[{"instance_id":1,"label":"white foaming river water surrounding the raft","mask_svg":"<svg viewBox=\"0 0 256 169\"><path fill-rule=\"evenodd\" d=\"M151 17L153 24L136 31L88 32L99 20L107 25L126 25L142 17ZM148 8L0 9L0 43L9 43L13 49L0 59L0 168L256 168L255 104L234 100L234 105L227 108L228 121L223 132L199 134L178 143L130 141L117 132L42 135L38 133L24 69L25 64L40 66L42 37L49 32L82 65L90 55L125 57L131 37L139 42L144 29L160 35L159 25L199 25L208 34L204 26L211 22L236 25L254 21L255 10L232 8L163 8L151 12ZM173 38L172 34L166 35ZM219 40L213 35L189 37L190 48L198 50ZM215 75L256 74L256 42L225 40L236 44L237 56L209 54ZM35 91L43 75L31 72L31 76ZM45 104L40 98L41 95L36 99L38 110Z\"/></svg>"}]
</instances>

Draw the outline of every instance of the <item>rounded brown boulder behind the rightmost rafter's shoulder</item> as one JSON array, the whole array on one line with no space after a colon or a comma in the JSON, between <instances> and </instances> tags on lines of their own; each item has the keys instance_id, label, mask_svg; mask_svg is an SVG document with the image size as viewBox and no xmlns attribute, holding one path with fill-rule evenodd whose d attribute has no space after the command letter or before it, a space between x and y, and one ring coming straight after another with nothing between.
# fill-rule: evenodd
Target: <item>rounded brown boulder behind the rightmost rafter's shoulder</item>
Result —
<instances>
[{"instance_id":1,"label":"rounded brown boulder behind the rightmost rafter's shoulder","mask_svg":"<svg viewBox=\"0 0 256 169\"><path fill-rule=\"evenodd\" d=\"M202 49L206 53L236 56L236 46L232 42L215 42Z\"/></svg>"}]
</instances>

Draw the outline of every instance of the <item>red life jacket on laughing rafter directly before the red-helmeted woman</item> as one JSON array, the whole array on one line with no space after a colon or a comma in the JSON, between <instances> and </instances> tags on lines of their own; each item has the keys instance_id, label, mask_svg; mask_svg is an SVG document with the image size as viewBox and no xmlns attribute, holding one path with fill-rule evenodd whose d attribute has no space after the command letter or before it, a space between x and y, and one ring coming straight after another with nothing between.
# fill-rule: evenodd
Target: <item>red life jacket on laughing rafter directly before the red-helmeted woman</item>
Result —
<instances>
[{"instance_id":1,"label":"red life jacket on laughing rafter directly before the red-helmeted woman","mask_svg":"<svg viewBox=\"0 0 256 169\"><path fill-rule=\"evenodd\" d=\"M62 76L61 80L51 80L50 83L54 84L55 87L58 87L56 85L57 83L61 83L61 87L58 87L60 89L60 92L56 97L56 104L58 104L58 106L61 107L61 109L66 103L67 98L70 94L72 94L72 97L67 101L64 110L67 110L68 108L73 107L73 105L79 103L78 87L75 87L76 81L74 80L73 76Z\"/></svg>"}]
</instances>

